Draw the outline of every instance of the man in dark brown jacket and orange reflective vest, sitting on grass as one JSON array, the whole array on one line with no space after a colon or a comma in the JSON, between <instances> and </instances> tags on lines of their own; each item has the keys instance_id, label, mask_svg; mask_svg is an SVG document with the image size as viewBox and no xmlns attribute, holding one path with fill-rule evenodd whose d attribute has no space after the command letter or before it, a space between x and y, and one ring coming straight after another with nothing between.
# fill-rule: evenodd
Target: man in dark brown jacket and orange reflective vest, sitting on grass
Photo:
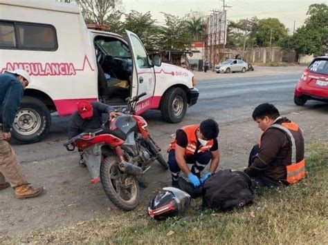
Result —
<instances>
[{"instance_id":1,"label":"man in dark brown jacket and orange reflective vest, sitting on grass","mask_svg":"<svg viewBox=\"0 0 328 245\"><path fill-rule=\"evenodd\" d=\"M262 134L250 153L244 170L259 186L288 185L304 177L304 138L293 121L280 117L272 104L260 104L253 111Z\"/></svg>"}]
</instances>

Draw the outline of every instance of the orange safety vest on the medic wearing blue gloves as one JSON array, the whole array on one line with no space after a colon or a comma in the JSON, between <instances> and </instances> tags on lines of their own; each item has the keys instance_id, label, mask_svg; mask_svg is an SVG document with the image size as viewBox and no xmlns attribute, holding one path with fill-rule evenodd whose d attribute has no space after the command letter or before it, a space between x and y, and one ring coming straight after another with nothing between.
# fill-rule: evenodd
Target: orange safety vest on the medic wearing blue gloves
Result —
<instances>
[{"instance_id":1,"label":"orange safety vest on the medic wearing blue gloves","mask_svg":"<svg viewBox=\"0 0 328 245\"><path fill-rule=\"evenodd\" d=\"M185 148L185 155L194 155L197 149L198 140L197 140L196 131L198 128L199 128L199 124L184 126L183 128L181 128L181 130L183 130L187 135L187 139L188 139L188 145ZM213 144L214 144L214 140L213 139L209 140L206 146L199 147L197 153L203 153L206 150L210 150ZM170 147L167 150L167 153L175 149L175 146L176 146L176 137L172 140Z\"/></svg>"}]
</instances>

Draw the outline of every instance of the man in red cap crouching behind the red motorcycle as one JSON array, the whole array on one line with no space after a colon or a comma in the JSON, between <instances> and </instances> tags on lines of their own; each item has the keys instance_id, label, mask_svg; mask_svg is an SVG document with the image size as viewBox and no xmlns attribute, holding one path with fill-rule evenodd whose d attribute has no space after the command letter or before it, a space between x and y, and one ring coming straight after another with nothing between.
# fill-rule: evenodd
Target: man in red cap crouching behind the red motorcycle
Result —
<instances>
[{"instance_id":1,"label":"man in red cap crouching behind the red motorcycle","mask_svg":"<svg viewBox=\"0 0 328 245\"><path fill-rule=\"evenodd\" d=\"M77 104L78 110L73 113L69 122L69 139L84 133L93 131L102 127L102 114L107 113L109 119L117 117L120 112L115 112L113 107L101 102L80 101ZM82 152L80 153L80 166L84 167Z\"/></svg>"}]
</instances>

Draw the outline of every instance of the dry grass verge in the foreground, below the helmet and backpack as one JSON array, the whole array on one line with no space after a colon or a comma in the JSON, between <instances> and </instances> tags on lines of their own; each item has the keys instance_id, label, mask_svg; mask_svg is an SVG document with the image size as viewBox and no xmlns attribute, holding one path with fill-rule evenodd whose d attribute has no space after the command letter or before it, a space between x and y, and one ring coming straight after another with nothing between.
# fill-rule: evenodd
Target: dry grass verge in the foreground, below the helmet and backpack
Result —
<instances>
[{"instance_id":1,"label":"dry grass verge in the foreground, below the helmet and backpack","mask_svg":"<svg viewBox=\"0 0 328 245\"><path fill-rule=\"evenodd\" d=\"M8 243L96 244L327 244L328 142L307 148L307 178L286 188L261 189L254 204L232 213L199 210L192 202L186 217L156 222L145 207L110 219L32 233ZM1 241L1 239L0 239Z\"/></svg>"}]
</instances>

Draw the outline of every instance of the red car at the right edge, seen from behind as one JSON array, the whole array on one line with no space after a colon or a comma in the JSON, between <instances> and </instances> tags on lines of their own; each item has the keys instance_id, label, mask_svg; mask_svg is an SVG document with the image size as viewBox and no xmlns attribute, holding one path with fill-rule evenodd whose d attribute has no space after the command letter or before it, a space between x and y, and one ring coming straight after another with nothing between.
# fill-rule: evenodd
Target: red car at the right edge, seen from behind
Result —
<instances>
[{"instance_id":1,"label":"red car at the right edge, seen from behind","mask_svg":"<svg viewBox=\"0 0 328 245\"><path fill-rule=\"evenodd\" d=\"M295 104L303 106L309 99L328 103L328 56L314 58L296 85Z\"/></svg>"}]
</instances>

